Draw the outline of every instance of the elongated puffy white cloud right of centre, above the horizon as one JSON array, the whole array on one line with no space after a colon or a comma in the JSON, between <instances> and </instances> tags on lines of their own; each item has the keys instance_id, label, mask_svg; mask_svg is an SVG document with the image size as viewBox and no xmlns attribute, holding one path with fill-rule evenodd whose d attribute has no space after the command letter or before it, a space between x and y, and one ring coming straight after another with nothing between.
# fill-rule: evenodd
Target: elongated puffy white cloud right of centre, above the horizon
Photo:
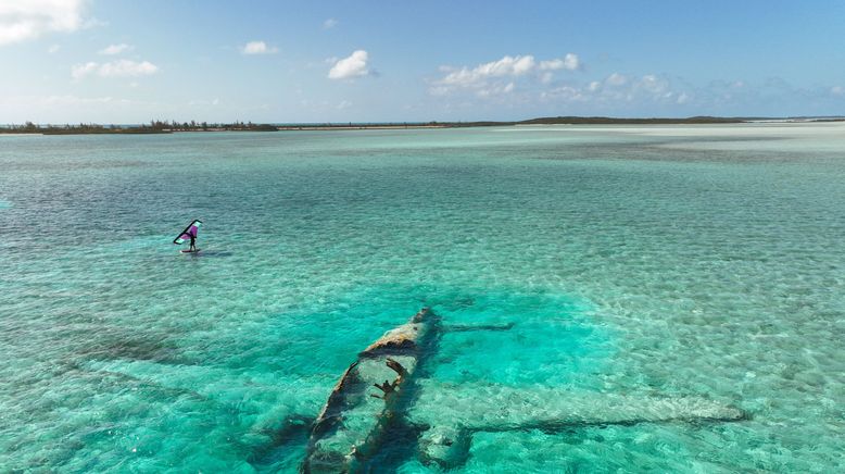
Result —
<instances>
[{"instance_id":1,"label":"elongated puffy white cloud right of centre, above the horizon","mask_svg":"<svg viewBox=\"0 0 845 474\"><path fill-rule=\"evenodd\" d=\"M446 74L434 82L430 92L444 95L459 89L469 89L480 97L508 93L516 88L516 79L530 77L542 84L550 84L554 79L553 71L576 71L580 66L580 60L573 53L543 61L537 61L532 54L505 55L475 67L441 66L441 72Z\"/></svg>"}]
</instances>

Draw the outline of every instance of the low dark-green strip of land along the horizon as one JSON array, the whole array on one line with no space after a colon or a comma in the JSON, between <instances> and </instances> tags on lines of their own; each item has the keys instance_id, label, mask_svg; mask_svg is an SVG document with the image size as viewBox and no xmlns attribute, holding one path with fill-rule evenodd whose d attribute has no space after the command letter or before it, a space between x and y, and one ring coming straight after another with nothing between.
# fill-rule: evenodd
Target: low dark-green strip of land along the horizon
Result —
<instances>
[{"instance_id":1,"label":"low dark-green strip of land along the horizon","mask_svg":"<svg viewBox=\"0 0 845 474\"><path fill-rule=\"evenodd\" d=\"M0 134L40 135L137 135L173 134L187 132L279 132L279 130L343 130L343 129L399 129L399 128L461 128L515 125L707 125L740 124L752 122L843 122L845 117L718 117L692 116L685 118L618 118L606 116L555 116L516 122L383 122L383 123L307 123L307 124L254 124L232 122L229 124L207 122L150 121L141 125L39 125L26 122L21 125L0 126Z\"/></svg>"}]
</instances>

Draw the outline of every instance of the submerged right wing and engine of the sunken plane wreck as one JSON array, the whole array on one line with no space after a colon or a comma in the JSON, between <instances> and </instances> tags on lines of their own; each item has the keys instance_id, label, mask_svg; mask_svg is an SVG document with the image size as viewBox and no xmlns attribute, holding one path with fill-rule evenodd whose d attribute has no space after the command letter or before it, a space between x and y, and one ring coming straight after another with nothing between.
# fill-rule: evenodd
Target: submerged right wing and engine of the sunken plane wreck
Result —
<instances>
[{"instance_id":1,"label":"submerged right wing and engine of the sunken plane wreck","mask_svg":"<svg viewBox=\"0 0 845 474\"><path fill-rule=\"evenodd\" d=\"M640 423L737 422L748 413L702 397L659 397L601 394L587 390L533 387L530 390L492 384L459 388L420 381L425 397L406 419L422 426L419 458L442 469L462 465L469 457L472 435L516 429L554 433L585 426ZM468 398L470 391L477 397Z\"/></svg>"}]
</instances>

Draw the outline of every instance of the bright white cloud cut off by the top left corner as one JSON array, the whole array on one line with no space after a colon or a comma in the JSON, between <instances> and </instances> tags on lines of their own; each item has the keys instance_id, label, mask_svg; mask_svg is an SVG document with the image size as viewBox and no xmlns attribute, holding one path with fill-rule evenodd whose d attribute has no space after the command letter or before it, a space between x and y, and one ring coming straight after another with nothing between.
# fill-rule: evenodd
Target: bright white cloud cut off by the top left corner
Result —
<instances>
[{"instance_id":1,"label":"bright white cloud cut off by the top left corner","mask_svg":"<svg viewBox=\"0 0 845 474\"><path fill-rule=\"evenodd\" d=\"M86 27L84 0L0 1L0 46L35 39L47 33Z\"/></svg>"}]
</instances>

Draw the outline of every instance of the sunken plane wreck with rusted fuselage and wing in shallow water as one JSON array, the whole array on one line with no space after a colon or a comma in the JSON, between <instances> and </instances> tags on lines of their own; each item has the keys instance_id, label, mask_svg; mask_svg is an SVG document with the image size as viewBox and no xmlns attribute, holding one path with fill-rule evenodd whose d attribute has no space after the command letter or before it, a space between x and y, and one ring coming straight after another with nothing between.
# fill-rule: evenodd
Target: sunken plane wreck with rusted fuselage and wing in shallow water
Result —
<instances>
[{"instance_id":1,"label":"sunken plane wreck with rusted fuselage and wing in shallow water","mask_svg":"<svg viewBox=\"0 0 845 474\"><path fill-rule=\"evenodd\" d=\"M422 309L387 332L358 354L332 389L311 428L301 471L368 472L384 467L391 452L408 450L415 450L425 464L452 469L467 461L472 434L478 432L747 417L737 408L701 397L634 397L493 384L455 387L427 376L426 363L444 332L513 326L449 327L433 311ZM467 389L478 397L467 399Z\"/></svg>"}]
</instances>

